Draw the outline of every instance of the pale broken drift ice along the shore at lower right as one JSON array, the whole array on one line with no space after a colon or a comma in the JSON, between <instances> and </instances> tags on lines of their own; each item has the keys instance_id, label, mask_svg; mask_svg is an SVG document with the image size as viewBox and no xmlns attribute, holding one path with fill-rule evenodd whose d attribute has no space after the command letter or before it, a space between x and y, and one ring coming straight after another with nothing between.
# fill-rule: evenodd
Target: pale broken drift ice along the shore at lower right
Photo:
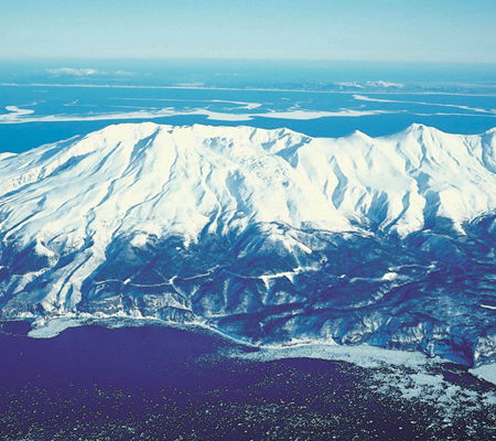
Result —
<instances>
[{"instance_id":1,"label":"pale broken drift ice along the shore at lower right","mask_svg":"<svg viewBox=\"0 0 496 441\"><path fill-rule=\"evenodd\" d=\"M496 405L494 391L474 391L462 385L444 379L442 374L446 361L428 358L418 352L391 351L367 345L341 346L314 342L300 343L294 346L262 347L258 352L231 351L226 355L241 359L269 362L284 358L317 358L352 363L367 369L371 380L368 387L402 400L422 401L444 416L443 426L451 426L459 418L464 418L471 410L481 411L487 406ZM473 375L496 384L496 365L471 369ZM380 368L380 369L377 369ZM434 369L433 369L434 368Z\"/></svg>"}]
</instances>

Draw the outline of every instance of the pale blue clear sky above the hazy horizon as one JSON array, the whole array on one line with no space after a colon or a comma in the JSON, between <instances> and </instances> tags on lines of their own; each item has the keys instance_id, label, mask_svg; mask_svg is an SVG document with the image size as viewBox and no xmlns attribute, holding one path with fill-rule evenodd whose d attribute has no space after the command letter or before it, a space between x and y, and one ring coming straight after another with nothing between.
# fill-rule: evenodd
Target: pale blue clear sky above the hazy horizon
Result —
<instances>
[{"instance_id":1,"label":"pale blue clear sky above the hazy horizon","mask_svg":"<svg viewBox=\"0 0 496 441\"><path fill-rule=\"evenodd\" d=\"M0 0L0 58L496 62L495 0Z\"/></svg>"}]
</instances>

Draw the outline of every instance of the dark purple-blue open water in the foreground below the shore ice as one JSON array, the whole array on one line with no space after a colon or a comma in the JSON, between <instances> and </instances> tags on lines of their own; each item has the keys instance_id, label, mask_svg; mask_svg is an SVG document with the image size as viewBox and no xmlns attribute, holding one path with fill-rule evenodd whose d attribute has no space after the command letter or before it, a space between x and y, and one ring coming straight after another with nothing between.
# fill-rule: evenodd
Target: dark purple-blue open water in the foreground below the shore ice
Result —
<instances>
[{"instance_id":1,"label":"dark purple-blue open water in the foreground below the shore ice","mask_svg":"<svg viewBox=\"0 0 496 441\"><path fill-rule=\"evenodd\" d=\"M427 430L440 427L435 409L377 392L374 369L344 362L242 361L228 352L252 349L159 326L83 326L50 340L22 336L28 329L0 333L2 440L427 440L466 430ZM445 370L454 384L467 376Z\"/></svg>"}]
</instances>

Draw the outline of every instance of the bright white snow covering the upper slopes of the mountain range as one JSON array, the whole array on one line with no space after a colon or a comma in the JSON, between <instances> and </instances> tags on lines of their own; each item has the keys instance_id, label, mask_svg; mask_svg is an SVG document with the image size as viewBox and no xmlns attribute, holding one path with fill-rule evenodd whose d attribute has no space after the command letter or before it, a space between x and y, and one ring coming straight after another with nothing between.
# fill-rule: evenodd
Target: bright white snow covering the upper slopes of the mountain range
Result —
<instances>
[{"instance_id":1,"label":"bright white snow covering the upper slopes of the mountain range","mask_svg":"<svg viewBox=\"0 0 496 441\"><path fill-rule=\"evenodd\" d=\"M347 232L358 220L403 237L435 216L463 234L465 220L496 209L495 173L495 130L461 136L413 125L385 138L313 139L287 129L117 125L4 155L0 234L19 251L35 244L47 259L78 251L43 292L19 293L62 313L120 235L139 248L171 234L186 245L206 225L219 235L271 222ZM312 252L289 237L284 246ZM34 277L18 278L15 293ZM382 280L396 277L391 269Z\"/></svg>"}]
</instances>

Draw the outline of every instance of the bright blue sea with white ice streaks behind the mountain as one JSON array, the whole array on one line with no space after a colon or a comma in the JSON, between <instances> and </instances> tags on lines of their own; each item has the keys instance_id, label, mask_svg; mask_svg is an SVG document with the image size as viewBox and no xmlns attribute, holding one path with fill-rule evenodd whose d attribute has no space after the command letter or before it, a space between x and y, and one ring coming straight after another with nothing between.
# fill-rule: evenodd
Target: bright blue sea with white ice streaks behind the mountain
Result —
<instances>
[{"instance_id":1,"label":"bright blue sea with white ice streaks behind the mountain","mask_svg":"<svg viewBox=\"0 0 496 441\"><path fill-rule=\"evenodd\" d=\"M496 65L46 61L0 65L0 152L110 123L287 127L388 136L496 127Z\"/></svg>"}]
</instances>

